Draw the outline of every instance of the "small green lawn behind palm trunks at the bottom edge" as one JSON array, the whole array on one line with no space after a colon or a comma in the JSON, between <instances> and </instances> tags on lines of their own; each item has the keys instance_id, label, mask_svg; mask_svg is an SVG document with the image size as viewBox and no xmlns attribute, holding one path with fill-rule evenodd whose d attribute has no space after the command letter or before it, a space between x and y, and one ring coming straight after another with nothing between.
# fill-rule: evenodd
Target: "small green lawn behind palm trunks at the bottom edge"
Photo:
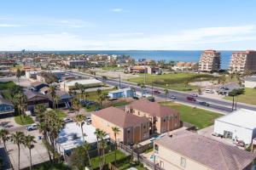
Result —
<instances>
[{"instance_id":1,"label":"small green lawn behind palm trunks at the bottom edge","mask_svg":"<svg viewBox=\"0 0 256 170\"><path fill-rule=\"evenodd\" d=\"M125 159L125 154L122 153L121 151L117 150L117 160L121 160L121 159ZM109 162L113 162L114 161L114 151L109 152L105 155L106 158L106 164L108 164ZM96 169L97 167L99 167L99 157L94 157L90 160L91 162L91 167L92 169Z\"/></svg>"}]
</instances>

